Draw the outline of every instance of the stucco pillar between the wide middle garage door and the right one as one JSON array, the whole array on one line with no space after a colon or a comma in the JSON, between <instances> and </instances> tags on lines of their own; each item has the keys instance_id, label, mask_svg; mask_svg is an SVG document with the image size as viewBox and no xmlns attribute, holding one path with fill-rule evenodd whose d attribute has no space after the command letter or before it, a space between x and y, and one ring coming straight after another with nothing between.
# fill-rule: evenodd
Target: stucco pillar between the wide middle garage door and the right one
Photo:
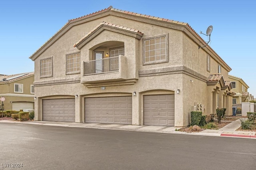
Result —
<instances>
[{"instance_id":1,"label":"stucco pillar between the wide middle garage door and the right one","mask_svg":"<svg viewBox=\"0 0 256 170\"><path fill-rule=\"evenodd\" d=\"M143 124L143 109L140 109L143 103L140 102L140 99L140 93L136 93L135 96L132 94L132 125Z\"/></svg>"}]
</instances>

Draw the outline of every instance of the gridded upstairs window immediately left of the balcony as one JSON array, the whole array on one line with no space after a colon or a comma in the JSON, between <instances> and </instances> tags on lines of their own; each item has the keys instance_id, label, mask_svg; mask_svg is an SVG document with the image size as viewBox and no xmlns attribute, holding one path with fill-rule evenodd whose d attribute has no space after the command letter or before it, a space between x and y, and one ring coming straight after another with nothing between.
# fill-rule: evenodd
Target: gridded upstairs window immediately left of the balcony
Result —
<instances>
[{"instance_id":1,"label":"gridded upstairs window immediately left of the balcony","mask_svg":"<svg viewBox=\"0 0 256 170\"><path fill-rule=\"evenodd\" d=\"M66 73L80 73L80 53L66 55Z\"/></svg>"}]
</instances>

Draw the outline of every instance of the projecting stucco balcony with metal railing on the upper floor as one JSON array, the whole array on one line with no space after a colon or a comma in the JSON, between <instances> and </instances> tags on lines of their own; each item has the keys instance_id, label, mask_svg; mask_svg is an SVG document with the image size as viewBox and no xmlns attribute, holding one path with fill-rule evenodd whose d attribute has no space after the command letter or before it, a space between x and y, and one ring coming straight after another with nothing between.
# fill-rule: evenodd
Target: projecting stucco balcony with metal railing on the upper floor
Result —
<instances>
[{"instance_id":1,"label":"projecting stucco balcony with metal railing on the upper floor","mask_svg":"<svg viewBox=\"0 0 256 170\"><path fill-rule=\"evenodd\" d=\"M87 61L84 62L81 83L95 85L95 83L126 80L126 71L126 57L123 55Z\"/></svg>"}]
</instances>

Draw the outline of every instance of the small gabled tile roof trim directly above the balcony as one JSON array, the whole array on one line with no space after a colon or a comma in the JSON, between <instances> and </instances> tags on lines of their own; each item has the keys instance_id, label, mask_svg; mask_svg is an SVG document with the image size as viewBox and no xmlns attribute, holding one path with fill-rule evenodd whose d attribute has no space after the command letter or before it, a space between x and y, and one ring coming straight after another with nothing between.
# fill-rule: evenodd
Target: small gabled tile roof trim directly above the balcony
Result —
<instances>
[{"instance_id":1,"label":"small gabled tile roof trim directly above the balcony","mask_svg":"<svg viewBox=\"0 0 256 170\"><path fill-rule=\"evenodd\" d=\"M101 26L110 26L110 27L113 27L113 28L117 28L117 29L120 29L120 30L126 30L126 31L130 31L130 32L135 32L135 33L138 33L140 34L141 36L143 36L143 33L140 32L139 30L135 30L135 29L132 29L132 28L127 28L127 27L123 27L123 26L118 26L116 24L110 24L108 22L102 22L100 23L98 26L96 26L93 30L91 30L90 32L88 32L88 34L86 34L83 38L81 38L78 42L76 42L73 47L76 47L76 45L80 42L82 42L82 40L84 40L86 37L88 37L90 34L92 34L95 30L97 30L98 28L100 28Z\"/></svg>"}]
</instances>

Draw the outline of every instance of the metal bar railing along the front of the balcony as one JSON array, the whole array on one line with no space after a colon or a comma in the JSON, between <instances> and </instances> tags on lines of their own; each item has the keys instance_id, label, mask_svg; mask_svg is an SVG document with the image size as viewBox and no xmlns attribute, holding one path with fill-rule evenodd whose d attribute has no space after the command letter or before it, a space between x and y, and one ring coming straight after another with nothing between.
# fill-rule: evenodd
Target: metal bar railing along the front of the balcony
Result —
<instances>
[{"instance_id":1,"label":"metal bar railing along the front of the balcony","mask_svg":"<svg viewBox=\"0 0 256 170\"><path fill-rule=\"evenodd\" d=\"M84 62L84 75L119 71L119 57Z\"/></svg>"}]
</instances>

